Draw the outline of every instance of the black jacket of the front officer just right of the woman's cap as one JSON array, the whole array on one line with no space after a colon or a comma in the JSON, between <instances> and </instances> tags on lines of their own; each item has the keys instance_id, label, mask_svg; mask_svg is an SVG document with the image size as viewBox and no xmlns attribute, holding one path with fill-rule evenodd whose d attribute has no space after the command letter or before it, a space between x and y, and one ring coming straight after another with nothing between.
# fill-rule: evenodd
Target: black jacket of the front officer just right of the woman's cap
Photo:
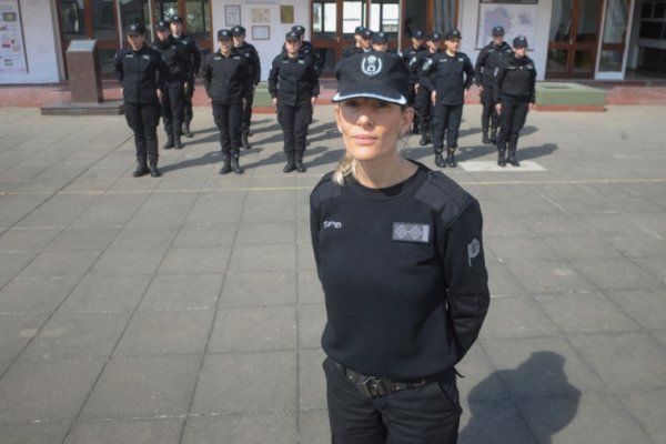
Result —
<instances>
[{"instance_id":1,"label":"black jacket of the front officer just right of the woman's cap","mask_svg":"<svg viewBox=\"0 0 666 444\"><path fill-rule=\"evenodd\" d=\"M465 90L474 81L474 67L463 52L448 56L446 51L434 54L421 68L421 84L437 91L437 103L463 104Z\"/></svg>"}]
</instances>

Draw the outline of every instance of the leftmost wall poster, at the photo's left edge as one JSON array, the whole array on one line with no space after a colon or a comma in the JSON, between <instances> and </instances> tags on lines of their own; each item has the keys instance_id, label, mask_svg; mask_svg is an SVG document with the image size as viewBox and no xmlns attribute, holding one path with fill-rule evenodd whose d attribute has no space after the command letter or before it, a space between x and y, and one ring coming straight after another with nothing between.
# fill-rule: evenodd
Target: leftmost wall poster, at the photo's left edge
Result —
<instances>
[{"instance_id":1,"label":"leftmost wall poster, at the photo's left edge","mask_svg":"<svg viewBox=\"0 0 666 444\"><path fill-rule=\"evenodd\" d=\"M19 0L0 0L0 73L28 73Z\"/></svg>"}]
</instances>

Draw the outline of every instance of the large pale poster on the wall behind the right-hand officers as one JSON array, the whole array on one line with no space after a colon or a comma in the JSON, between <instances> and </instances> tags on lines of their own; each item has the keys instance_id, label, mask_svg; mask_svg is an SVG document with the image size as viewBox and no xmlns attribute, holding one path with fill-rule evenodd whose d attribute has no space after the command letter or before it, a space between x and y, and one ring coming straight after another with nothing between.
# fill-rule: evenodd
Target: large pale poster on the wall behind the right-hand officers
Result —
<instances>
[{"instance_id":1,"label":"large pale poster on the wall behind the right-hand officers","mask_svg":"<svg viewBox=\"0 0 666 444\"><path fill-rule=\"evenodd\" d=\"M536 1L507 3L500 1L482 1L478 6L478 31L476 48L481 49L491 42L493 28L504 28L504 41L508 44L517 36L525 36L533 47L536 36Z\"/></svg>"}]
</instances>

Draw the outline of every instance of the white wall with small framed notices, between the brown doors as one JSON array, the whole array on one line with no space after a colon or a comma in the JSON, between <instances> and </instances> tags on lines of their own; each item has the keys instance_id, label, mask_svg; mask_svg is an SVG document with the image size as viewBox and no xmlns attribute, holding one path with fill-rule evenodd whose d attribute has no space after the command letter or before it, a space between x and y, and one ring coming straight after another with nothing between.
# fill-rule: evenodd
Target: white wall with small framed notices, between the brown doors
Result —
<instances>
[{"instance_id":1,"label":"white wall with small framed notices, between the brown doors","mask_svg":"<svg viewBox=\"0 0 666 444\"><path fill-rule=\"evenodd\" d=\"M212 1L212 26L213 36L216 39L218 30L229 29L231 27L225 23L225 9L228 4L240 4L241 7L241 24L246 30L245 40L252 43L259 57L261 59L261 80L269 79L269 71L271 70L271 63L275 56L282 51L282 44L284 43L284 34L291 31L294 24L302 24L305 27L305 40L311 40L310 34L310 0L213 0ZM294 7L294 22L293 23L280 23L280 6L292 4ZM262 22L253 22L253 10L264 11L268 10L269 20ZM254 16L263 16L254 14ZM256 18L256 17L255 17ZM253 40L252 39L252 26L268 26L270 27L271 39L270 40ZM215 42L215 51L218 50L218 43Z\"/></svg>"}]
</instances>

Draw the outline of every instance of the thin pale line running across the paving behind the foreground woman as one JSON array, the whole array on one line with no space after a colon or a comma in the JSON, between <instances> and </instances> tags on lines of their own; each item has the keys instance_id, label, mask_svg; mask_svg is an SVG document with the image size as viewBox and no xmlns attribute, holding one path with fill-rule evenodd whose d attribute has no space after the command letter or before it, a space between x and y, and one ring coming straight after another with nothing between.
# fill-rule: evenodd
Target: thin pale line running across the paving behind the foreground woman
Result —
<instances>
[{"instance_id":1,"label":"thin pale line running across the paving behind the foreground woman","mask_svg":"<svg viewBox=\"0 0 666 444\"><path fill-rule=\"evenodd\" d=\"M460 181L462 186L482 185L578 185L578 184L618 184L618 183L666 183L666 179L578 179L578 180L515 180L515 181ZM244 186L244 188L201 188L182 190L122 190L122 191L0 191L3 195L102 195L102 194L185 194L185 193L215 193L215 192L262 192L262 191L307 191L314 185L307 186Z\"/></svg>"}]
</instances>

